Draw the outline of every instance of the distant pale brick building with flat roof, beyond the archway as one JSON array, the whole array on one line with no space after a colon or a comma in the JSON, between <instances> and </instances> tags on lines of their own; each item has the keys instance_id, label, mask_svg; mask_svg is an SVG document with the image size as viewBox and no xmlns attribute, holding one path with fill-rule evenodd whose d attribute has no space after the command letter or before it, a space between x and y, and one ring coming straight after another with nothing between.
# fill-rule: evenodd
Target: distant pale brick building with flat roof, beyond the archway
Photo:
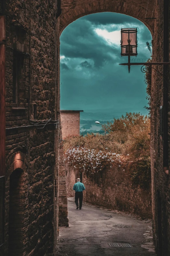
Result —
<instances>
[{"instance_id":1,"label":"distant pale brick building with flat roof, beyond the archway","mask_svg":"<svg viewBox=\"0 0 170 256\"><path fill-rule=\"evenodd\" d=\"M80 135L80 111L61 110L60 116L63 139L69 135Z\"/></svg>"}]
</instances>

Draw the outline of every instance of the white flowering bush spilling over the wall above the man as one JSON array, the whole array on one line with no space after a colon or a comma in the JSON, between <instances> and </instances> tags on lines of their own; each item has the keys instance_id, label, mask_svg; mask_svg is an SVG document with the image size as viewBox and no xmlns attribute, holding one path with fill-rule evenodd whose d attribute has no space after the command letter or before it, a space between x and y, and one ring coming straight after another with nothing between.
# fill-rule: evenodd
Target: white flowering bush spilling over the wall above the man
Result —
<instances>
[{"instance_id":1,"label":"white flowering bush spilling over the wall above the man","mask_svg":"<svg viewBox=\"0 0 170 256\"><path fill-rule=\"evenodd\" d=\"M69 166L88 174L97 173L106 166L112 167L115 164L121 166L122 163L121 154L85 147L69 148L65 155Z\"/></svg>"}]
</instances>

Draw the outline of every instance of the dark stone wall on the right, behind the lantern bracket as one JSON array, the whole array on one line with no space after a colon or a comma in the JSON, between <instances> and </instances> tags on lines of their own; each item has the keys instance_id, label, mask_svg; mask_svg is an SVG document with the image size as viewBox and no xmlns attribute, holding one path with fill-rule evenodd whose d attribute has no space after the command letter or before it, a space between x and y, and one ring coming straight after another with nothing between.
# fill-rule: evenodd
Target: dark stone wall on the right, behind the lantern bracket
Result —
<instances>
[{"instance_id":1,"label":"dark stone wall on the right, behind the lantern bracket","mask_svg":"<svg viewBox=\"0 0 170 256\"><path fill-rule=\"evenodd\" d=\"M168 3L169 1L156 1L153 62L166 61L163 60L163 2ZM165 24L169 24L168 19L169 17L167 16ZM167 36L169 40L169 32ZM167 57L169 57L168 54ZM154 68L157 67L154 66ZM163 71L161 72L163 74ZM168 81L169 90L168 77L166 77L166 80ZM167 89L163 87L163 77L159 76L155 70L152 70L150 152L152 172L153 237L157 254L161 256L170 255L170 179L163 171L163 155L166 154L167 151L169 154L168 159L170 159L170 104L168 92L168 138L166 139L168 140L168 148L165 152L165 150L163 150L163 139L160 136L160 106L165 105L165 102L163 102L163 96L167 95ZM163 114L163 119L164 118L165 116ZM170 162L168 163L168 168L170 167L169 164Z\"/></svg>"}]
</instances>

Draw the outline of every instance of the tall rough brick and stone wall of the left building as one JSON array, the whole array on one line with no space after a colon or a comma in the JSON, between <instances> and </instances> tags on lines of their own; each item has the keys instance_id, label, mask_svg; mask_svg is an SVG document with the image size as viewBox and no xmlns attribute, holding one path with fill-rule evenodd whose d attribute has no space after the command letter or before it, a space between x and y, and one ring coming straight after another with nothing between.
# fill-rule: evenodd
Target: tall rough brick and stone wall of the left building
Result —
<instances>
[{"instance_id":1,"label":"tall rough brick and stone wall of the left building","mask_svg":"<svg viewBox=\"0 0 170 256\"><path fill-rule=\"evenodd\" d=\"M56 9L55 0L6 1L3 256L9 255L8 251L10 255L56 255L59 189L59 51L56 47L58 42L59 48L59 21L56 22ZM36 120L50 118L57 120L57 129L53 124L44 128L43 125L41 129L32 125L39 122ZM11 192L13 176L19 179L17 193ZM16 229L11 221L15 203L18 205L15 219L20 219ZM18 229L18 238L13 241Z\"/></svg>"}]
</instances>

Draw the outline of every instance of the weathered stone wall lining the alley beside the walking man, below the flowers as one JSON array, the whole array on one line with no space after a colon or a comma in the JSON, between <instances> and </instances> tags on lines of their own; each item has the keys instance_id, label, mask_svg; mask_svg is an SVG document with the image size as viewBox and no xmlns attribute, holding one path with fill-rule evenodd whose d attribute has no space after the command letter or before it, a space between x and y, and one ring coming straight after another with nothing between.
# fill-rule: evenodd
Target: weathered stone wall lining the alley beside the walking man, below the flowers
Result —
<instances>
[{"instance_id":1,"label":"weathered stone wall lining the alley beside the walking man, below the flowers","mask_svg":"<svg viewBox=\"0 0 170 256\"><path fill-rule=\"evenodd\" d=\"M72 192L76 172L65 163L68 197ZM86 202L120 211L135 213L141 217L152 218L151 189L133 186L131 180L120 167L103 169L95 176L83 176Z\"/></svg>"}]
</instances>

